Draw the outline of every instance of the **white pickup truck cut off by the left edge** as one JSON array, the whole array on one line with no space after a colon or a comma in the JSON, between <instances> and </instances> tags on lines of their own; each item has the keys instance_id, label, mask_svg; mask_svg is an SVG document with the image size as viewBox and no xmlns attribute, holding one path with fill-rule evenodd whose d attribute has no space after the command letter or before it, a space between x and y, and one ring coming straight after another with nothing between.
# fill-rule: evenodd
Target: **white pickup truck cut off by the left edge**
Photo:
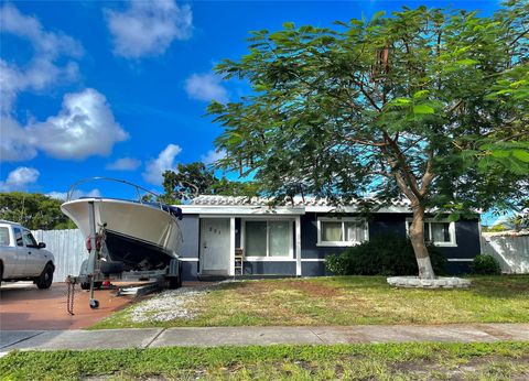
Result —
<instances>
[{"instance_id":1,"label":"white pickup truck cut off by the left edge","mask_svg":"<svg viewBox=\"0 0 529 381\"><path fill-rule=\"evenodd\" d=\"M0 220L0 282L33 281L39 289L50 289L55 258L45 247L26 228Z\"/></svg>"}]
</instances>

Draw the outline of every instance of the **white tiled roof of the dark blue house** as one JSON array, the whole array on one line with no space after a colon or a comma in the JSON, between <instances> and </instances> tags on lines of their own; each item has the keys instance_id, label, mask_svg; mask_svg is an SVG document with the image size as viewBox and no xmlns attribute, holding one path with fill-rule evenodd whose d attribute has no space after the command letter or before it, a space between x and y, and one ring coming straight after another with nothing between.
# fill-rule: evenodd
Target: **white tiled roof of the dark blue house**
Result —
<instances>
[{"instance_id":1,"label":"white tiled roof of the dark blue house","mask_svg":"<svg viewBox=\"0 0 529 381\"><path fill-rule=\"evenodd\" d=\"M380 200L369 198L379 206ZM272 205L271 199L261 197L245 196L218 196L199 195L191 200L188 205L179 205L185 214L227 214L227 215L256 215L256 214L277 214L277 215L304 215L305 213L328 213L359 211L360 200L355 199L347 205L336 206L325 198L315 197L294 197L284 205ZM384 206L376 213L411 213L410 203L406 199L396 199L390 205Z\"/></svg>"}]
</instances>

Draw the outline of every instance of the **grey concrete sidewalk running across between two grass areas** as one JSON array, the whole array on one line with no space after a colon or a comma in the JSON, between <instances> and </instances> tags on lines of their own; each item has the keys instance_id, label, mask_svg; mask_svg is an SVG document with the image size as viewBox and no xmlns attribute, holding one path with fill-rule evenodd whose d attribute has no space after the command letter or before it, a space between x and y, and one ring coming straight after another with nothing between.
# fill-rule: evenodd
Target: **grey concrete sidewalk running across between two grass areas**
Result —
<instances>
[{"instance_id":1,"label":"grey concrete sidewalk running across between two grass areas","mask_svg":"<svg viewBox=\"0 0 529 381\"><path fill-rule=\"evenodd\" d=\"M529 324L346 327L191 327L101 330L2 330L0 352L273 344L529 341Z\"/></svg>"}]
</instances>

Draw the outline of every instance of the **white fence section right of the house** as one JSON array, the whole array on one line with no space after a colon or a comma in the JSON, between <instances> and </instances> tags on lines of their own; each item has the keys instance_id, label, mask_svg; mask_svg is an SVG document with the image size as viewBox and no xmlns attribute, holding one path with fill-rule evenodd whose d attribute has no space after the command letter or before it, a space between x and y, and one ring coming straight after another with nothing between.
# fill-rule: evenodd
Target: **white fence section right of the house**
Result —
<instances>
[{"instance_id":1,"label":"white fence section right of the house","mask_svg":"<svg viewBox=\"0 0 529 381\"><path fill-rule=\"evenodd\" d=\"M496 258L506 273L529 273L529 236L482 236L482 252Z\"/></svg>"}]
</instances>

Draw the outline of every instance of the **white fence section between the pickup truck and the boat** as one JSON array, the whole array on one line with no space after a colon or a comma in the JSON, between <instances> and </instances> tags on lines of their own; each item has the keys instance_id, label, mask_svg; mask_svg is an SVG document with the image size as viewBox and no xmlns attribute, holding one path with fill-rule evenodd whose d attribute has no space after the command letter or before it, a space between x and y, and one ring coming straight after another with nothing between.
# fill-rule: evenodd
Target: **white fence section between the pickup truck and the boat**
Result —
<instances>
[{"instance_id":1,"label":"white fence section between the pickup truck and the boat","mask_svg":"<svg viewBox=\"0 0 529 381\"><path fill-rule=\"evenodd\" d=\"M54 282L64 282L66 275L78 275L80 264L88 258L85 240L78 229L33 230L39 242L55 255Z\"/></svg>"}]
</instances>

